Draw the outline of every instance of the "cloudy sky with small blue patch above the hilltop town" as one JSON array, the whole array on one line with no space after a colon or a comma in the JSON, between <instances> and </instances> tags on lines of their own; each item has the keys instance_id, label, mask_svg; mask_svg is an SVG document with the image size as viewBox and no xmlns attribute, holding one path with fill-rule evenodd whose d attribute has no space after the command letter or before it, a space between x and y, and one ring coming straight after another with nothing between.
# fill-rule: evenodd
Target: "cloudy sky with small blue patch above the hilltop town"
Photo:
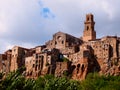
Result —
<instances>
[{"instance_id":1,"label":"cloudy sky with small blue patch above the hilltop town","mask_svg":"<svg viewBox=\"0 0 120 90\"><path fill-rule=\"evenodd\" d=\"M97 38L120 36L120 0L0 0L0 53L45 44L58 31L81 37L87 13Z\"/></svg>"}]
</instances>

